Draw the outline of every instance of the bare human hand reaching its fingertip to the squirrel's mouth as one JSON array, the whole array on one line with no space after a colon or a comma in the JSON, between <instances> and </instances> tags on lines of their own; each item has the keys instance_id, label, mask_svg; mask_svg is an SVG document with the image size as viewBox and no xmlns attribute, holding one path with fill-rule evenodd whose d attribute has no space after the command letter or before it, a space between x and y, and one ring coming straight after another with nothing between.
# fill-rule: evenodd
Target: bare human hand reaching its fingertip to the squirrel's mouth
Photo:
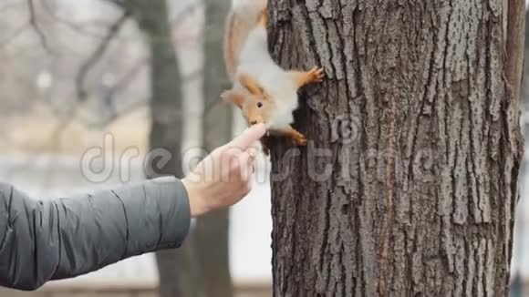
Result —
<instances>
[{"instance_id":1,"label":"bare human hand reaching its fingertip to the squirrel's mouth","mask_svg":"<svg viewBox=\"0 0 529 297\"><path fill-rule=\"evenodd\" d=\"M255 142L265 135L265 124L247 128L228 144L216 148L182 183L187 189L192 217L231 206L252 189Z\"/></svg>"}]
</instances>

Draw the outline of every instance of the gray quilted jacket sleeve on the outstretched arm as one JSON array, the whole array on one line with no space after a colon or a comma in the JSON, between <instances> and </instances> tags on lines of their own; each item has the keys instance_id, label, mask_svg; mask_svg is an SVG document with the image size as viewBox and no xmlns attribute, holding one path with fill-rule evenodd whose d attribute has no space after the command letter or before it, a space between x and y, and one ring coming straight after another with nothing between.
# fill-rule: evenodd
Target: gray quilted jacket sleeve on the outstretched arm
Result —
<instances>
[{"instance_id":1,"label":"gray quilted jacket sleeve on the outstretched arm","mask_svg":"<svg viewBox=\"0 0 529 297\"><path fill-rule=\"evenodd\" d=\"M0 183L0 285L34 290L49 280L179 247L190 222L179 179L47 201Z\"/></svg>"}]
</instances>

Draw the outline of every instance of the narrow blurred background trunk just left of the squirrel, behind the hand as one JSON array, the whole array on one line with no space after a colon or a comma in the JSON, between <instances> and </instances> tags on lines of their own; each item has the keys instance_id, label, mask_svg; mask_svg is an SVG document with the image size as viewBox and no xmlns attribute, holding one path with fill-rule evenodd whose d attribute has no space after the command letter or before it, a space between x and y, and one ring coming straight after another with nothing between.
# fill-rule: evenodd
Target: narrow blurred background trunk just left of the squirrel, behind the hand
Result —
<instances>
[{"instance_id":1,"label":"narrow blurred background trunk just left of the squirrel, behind the hand","mask_svg":"<svg viewBox=\"0 0 529 297\"><path fill-rule=\"evenodd\" d=\"M204 114L202 146L211 152L232 137L232 108L220 94L230 87L223 65L223 29L231 1L207 0L204 27ZM208 297L232 297L229 257L229 210L217 210L197 220L195 249L201 267L203 289Z\"/></svg>"}]
</instances>

